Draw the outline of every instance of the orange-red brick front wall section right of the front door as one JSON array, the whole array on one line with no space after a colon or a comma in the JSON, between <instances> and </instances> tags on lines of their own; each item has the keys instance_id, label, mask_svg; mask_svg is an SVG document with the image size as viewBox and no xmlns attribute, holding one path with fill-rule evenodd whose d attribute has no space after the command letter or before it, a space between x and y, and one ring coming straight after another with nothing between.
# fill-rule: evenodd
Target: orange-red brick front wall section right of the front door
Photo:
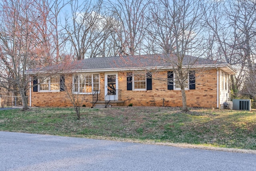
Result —
<instances>
[{"instance_id":1,"label":"orange-red brick front wall section right of the front door","mask_svg":"<svg viewBox=\"0 0 256 171\"><path fill-rule=\"evenodd\" d=\"M119 75L126 78L126 73L119 73ZM152 90L147 91L126 91L126 80L119 81L122 100L125 101L125 105L132 103L134 106L162 106L164 99L164 106L182 106L181 91L168 90L166 78L166 71L153 74ZM209 70L205 74L196 74L196 89L186 90L186 98L187 105L190 107L216 107L217 71Z\"/></svg>"}]
</instances>

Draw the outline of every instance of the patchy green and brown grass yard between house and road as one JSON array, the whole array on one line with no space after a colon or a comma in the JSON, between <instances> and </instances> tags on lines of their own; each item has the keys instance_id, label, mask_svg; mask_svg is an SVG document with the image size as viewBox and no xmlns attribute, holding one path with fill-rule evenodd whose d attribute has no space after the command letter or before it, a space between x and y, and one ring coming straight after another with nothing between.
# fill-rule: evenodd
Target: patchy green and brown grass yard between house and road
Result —
<instances>
[{"instance_id":1,"label":"patchy green and brown grass yard between house and road","mask_svg":"<svg viewBox=\"0 0 256 171\"><path fill-rule=\"evenodd\" d=\"M256 113L158 107L32 108L0 111L0 131L256 150Z\"/></svg>"}]
</instances>

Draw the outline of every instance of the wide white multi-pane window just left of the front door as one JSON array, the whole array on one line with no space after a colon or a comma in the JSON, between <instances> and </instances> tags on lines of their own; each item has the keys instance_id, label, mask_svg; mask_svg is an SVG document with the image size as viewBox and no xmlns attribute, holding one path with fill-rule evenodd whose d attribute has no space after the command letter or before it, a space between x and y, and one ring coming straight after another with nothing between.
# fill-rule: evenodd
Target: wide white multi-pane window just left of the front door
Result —
<instances>
[{"instance_id":1,"label":"wide white multi-pane window just left of the front door","mask_svg":"<svg viewBox=\"0 0 256 171\"><path fill-rule=\"evenodd\" d=\"M99 90L99 74L75 74L73 76L74 93L92 93L92 90Z\"/></svg>"}]
</instances>

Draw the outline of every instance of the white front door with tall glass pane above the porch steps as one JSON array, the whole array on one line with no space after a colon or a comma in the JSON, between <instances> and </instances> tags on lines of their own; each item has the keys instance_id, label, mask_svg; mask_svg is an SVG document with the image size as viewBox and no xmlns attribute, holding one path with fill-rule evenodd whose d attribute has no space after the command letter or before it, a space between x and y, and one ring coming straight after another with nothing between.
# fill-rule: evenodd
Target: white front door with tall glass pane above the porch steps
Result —
<instances>
[{"instance_id":1,"label":"white front door with tall glass pane above the porch steps","mask_svg":"<svg viewBox=\"0 0 256 171\"><path fill-rule=\"evenodd\" d=\"M105 100L118 100L117 74L105 74Z\"/></svg>"}]
</instances>

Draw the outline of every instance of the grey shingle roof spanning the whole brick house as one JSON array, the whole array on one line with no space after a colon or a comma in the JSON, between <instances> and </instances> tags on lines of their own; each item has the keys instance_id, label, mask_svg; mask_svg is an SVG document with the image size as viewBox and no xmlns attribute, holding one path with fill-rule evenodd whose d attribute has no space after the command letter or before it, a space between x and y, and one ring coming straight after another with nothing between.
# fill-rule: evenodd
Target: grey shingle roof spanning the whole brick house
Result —
<instances>
[{"instance_id":1,"label":"grey shingle roof spanning the whole brick house","mask_svg":"<svg viewBox=\"0 0 256 171\"><path fill-rule=\"evenodd\" d=\"M50 72L60 70L64 71L106 71L106 70L129 70L134 68L172 68L172 64L177 64L177 56L172 54L156 55L137 55L137 56L115 56L102 58L87 58L84 60L74 61L70 64L61 64L40 68L41 72ZM184 56L183 66L207 66L225 64L204 58L193 56ZM37 69L38 70L38 69ZM34 70L35 72L36 70ZM33 70L28 71L32 73Z\"/></svg>"}]
</instances>

